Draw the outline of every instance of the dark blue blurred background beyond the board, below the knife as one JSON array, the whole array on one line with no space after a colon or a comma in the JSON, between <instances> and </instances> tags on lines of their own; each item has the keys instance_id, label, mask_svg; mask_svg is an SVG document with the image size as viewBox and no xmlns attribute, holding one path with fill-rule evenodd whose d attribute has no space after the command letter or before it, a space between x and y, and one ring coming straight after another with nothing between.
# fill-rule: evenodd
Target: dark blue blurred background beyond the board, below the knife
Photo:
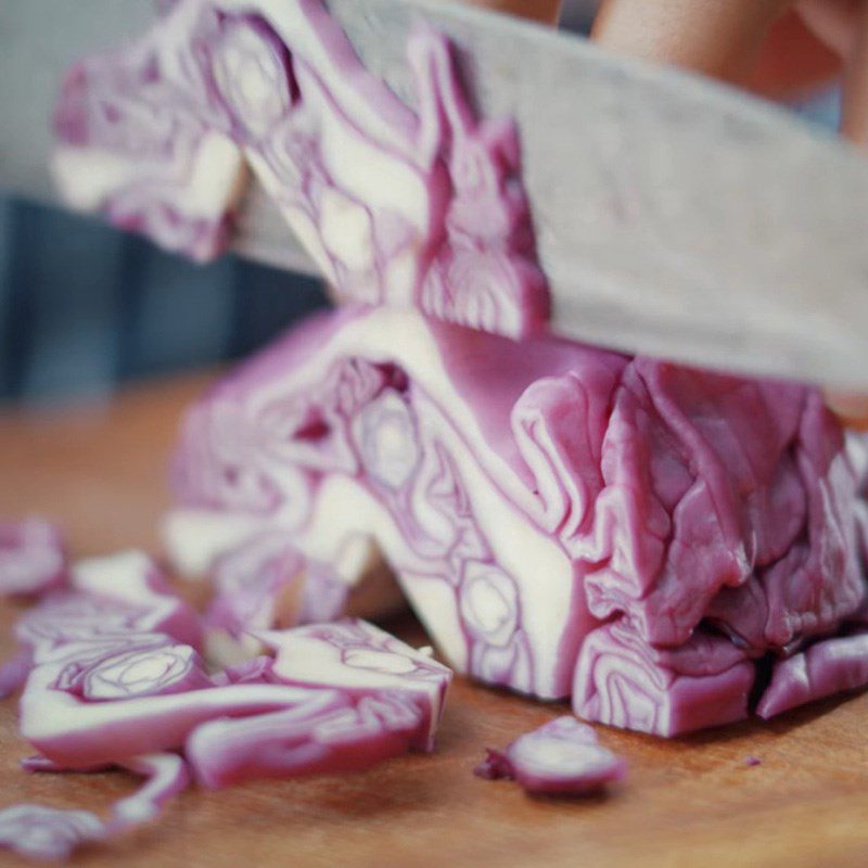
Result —
<instances>
[{"instance_id":1,"label":"dark blue blurred background beyond the board, below the knife","mask_svg":"<svg viewBox=\"0 0 868 868\"><path fill-rule=\"evenodd\" d=\"M23 0L2 0L13 1ZM562 26L586 31L595 5L566 0ZM794 108L833 126L838 94ZM2 406L105 395L239 358L323 305L317 281L234 256L193 265L99 219L0 191Z\"/></svg>"}]
</instances>

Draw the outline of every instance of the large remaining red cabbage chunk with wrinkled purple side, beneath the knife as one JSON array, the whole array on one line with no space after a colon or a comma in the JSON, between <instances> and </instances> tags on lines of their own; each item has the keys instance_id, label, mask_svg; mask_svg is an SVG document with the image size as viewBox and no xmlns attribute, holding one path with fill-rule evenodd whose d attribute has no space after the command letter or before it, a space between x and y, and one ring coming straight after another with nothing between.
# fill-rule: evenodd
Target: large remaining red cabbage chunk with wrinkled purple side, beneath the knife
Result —
<instances>
[{"instance_id":1,"label":"large remaining red cabbage chunk with wrinkled purple side, beneath the knife","mask_svg":"<svg viewBox=\"0 0 868 868\"><path fill-rule=\"evenodd\" d=\"M190 411L166 538L373 539L456 667L675 735L859 617L863 448L809 388L345 308Z\"/></svg>"}]
</instances>

